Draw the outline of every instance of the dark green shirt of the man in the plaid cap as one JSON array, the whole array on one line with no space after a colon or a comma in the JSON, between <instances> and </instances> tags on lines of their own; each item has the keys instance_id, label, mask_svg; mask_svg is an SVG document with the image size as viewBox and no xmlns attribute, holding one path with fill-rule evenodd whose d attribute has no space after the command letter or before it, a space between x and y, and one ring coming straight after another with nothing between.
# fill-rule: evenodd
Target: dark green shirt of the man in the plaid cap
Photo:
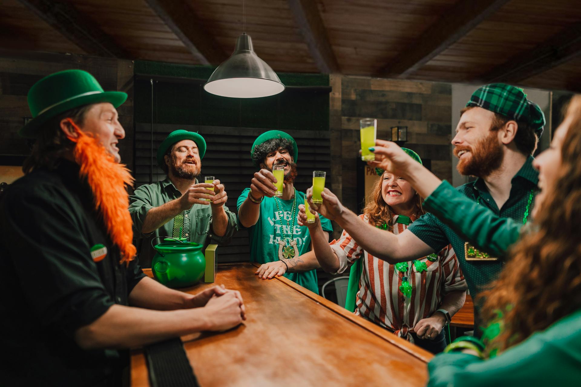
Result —
<instances>
[{"instance_id":1,"label":"dark green shirt of the man in the plaid cap","mask_svg":"<svg viewBox=\"0 0 581 387\"><path fill-rule=\"evenodd\" d=\"M480 198L480 205L490 209L495 215L501 218L512 218L515 222L522 223L529 194L531 190L536 189L539 181L539 173L533 168L532 162L533 158L529 157L512 178L510 196L500 209L482 179L460 186L457 190L473 201ZM530 205L529 212L532 210L532 205ZM460 211L457 209L455 212L455 216L465 216L461 209ZM433 248L434 251L440 251L449 243L452 245L473 298L478 295L483 285L495 280L502 270L504 259L501 256L496 257L497 261L466 261L465 238L459 236L433 214L425 214L408 227L408 230Z\"/></svg>"}]
</instances>

